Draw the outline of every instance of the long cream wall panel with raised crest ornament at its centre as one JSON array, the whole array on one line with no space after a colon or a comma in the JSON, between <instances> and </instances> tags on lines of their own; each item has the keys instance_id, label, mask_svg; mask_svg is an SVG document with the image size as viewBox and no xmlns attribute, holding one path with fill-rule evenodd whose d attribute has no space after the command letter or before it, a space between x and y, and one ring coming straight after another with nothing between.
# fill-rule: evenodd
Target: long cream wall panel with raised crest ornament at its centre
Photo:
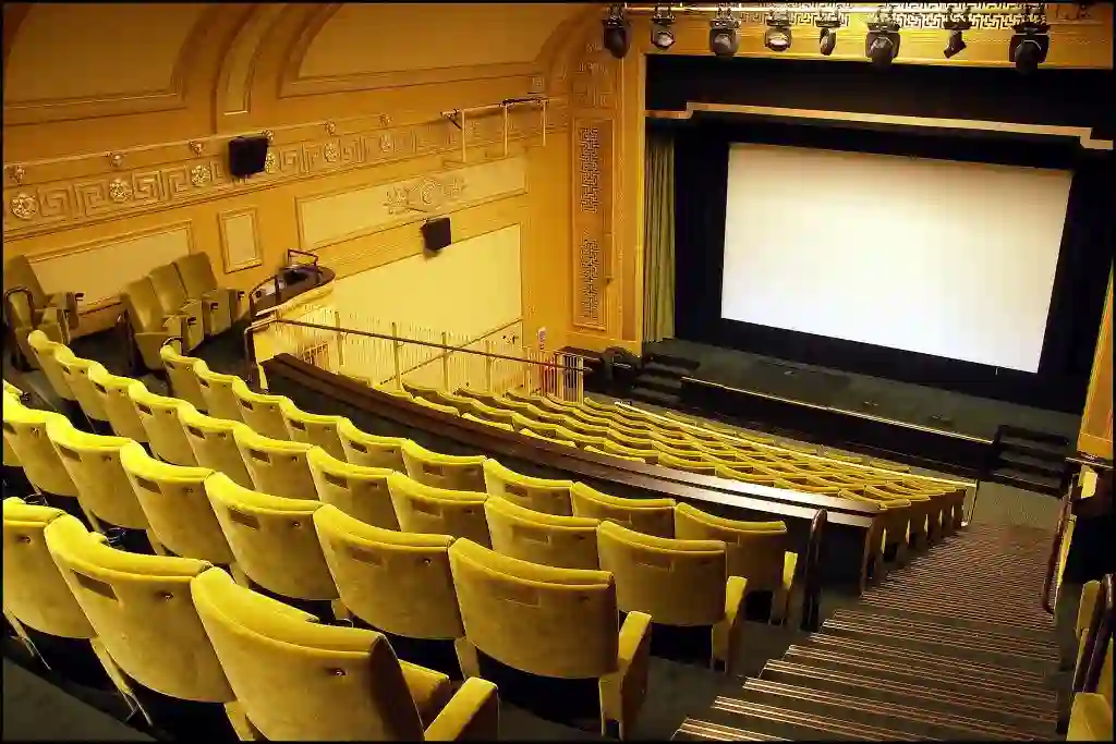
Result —
<instances>
[{"instance_id":1,"label":"long cream wall panel with raised crest ornament at its centre","mask_svg":"<svg viewBox=\"0 0 1116 744\"><path fill-rule=\"evenodd\" d=\"M526 187L526 160L509 157L441 174L302 199L298 202L301 244L306 250L325 248L397 224L521 193Z\"/></svg>"}]
</instances>

